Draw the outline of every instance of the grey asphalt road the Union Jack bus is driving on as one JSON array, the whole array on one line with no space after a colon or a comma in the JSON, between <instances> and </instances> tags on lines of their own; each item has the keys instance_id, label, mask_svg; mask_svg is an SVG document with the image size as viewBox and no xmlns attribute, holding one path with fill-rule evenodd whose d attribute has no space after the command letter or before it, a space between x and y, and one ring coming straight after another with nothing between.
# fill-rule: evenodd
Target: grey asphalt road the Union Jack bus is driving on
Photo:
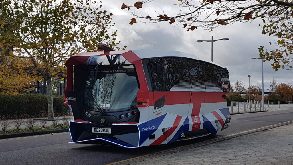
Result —
<instances>
[{"instance_id":1,"label":"grey asphalt road the Union Jack bus is driving on","mask_svg":"<svg viewBox=\"0 0 293 165\"><path fill-rule=\"evenodd\" d=\"M224 137L251 129L293 120L293 110L231 115ZM0 165L10 164L108 164L182 145L207 140L207 137L167 145L127 149L93 144L69 144L68 132L0 140Z\"/></svg>"}]
</instances>

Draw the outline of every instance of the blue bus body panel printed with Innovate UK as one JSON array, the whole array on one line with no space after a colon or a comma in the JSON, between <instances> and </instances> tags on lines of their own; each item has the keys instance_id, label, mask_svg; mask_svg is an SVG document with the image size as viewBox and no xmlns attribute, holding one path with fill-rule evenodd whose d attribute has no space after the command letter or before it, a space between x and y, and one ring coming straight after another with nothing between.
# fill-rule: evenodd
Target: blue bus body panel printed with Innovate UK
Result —
<instances>
[{"instance_id":1,"label":"blue bus body panel printed with Innovate UK","mask_svg":"<svg viewBox=\"0 0 293 165\"><path fill-rule=\"evenodd\" d=\"M153 134L159 128L165 117L166 114L138 125L140 131L139 145L146 141L149 135Z\"/></svg>"}]
</instances>

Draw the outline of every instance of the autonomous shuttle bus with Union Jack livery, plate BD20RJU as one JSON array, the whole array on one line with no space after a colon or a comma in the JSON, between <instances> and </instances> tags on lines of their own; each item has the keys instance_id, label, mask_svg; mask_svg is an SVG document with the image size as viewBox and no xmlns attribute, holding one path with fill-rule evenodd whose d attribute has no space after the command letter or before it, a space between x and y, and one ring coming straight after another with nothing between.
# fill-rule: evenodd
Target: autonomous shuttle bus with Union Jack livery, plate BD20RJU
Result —
<instances>
[{"instance_id":1,"label":"autonomous shuttle bus with Union Jack livery, plate BD20RJU","mask_svg":"<svg viewBox=\"0 0 293 165\"><path fill-rule=\"evenodd\" d=\"M167 50L79 53L66 62L70 143L142 147L215 136L230 123L228 70Z\"/></svg>"}]
</instances>

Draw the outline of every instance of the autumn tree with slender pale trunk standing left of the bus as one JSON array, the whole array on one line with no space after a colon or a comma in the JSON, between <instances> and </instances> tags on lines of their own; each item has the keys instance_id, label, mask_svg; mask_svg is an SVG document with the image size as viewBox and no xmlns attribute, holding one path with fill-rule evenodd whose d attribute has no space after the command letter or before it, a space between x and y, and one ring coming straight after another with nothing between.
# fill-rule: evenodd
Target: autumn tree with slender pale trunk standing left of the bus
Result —
<instances>
[{"instance_id":1,"label":"autumn tree with slender pale trunk standing left of the bus","mask_svg":"<svg viewBox=\"0 0 293 165\"><path fill-rule=\"evenodd\" d=\"M2 0L0 47L14 47L11 57L27 58L12 67L43 78L48 90L48 118L54 119L52 81L64 77L64 62L76 53L97 50L97 43L116 47L112 14L96 1ZM4 26L5 25L5 26ZM117 47L116 47L117 48Z\"/></svg>"}]
</instances>

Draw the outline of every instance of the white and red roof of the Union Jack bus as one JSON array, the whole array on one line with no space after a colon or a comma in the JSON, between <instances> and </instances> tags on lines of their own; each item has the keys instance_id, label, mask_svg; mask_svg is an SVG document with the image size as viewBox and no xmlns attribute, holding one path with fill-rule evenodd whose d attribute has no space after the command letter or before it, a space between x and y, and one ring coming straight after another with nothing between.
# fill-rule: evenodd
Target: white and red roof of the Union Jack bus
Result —
<instances>
[{"instance_id":1,"label":"white and red roof of the Union Jack bus","mask_svg":"<svg viewBox=\"0 0 293 165\"><path fill-rule=\"evenodd\" d=\"M67 61L67 64L69 65L79 65L81 63L72 63L74 61L80 61L78 58L83 58L83 57L89 57L89 56L96 56L96 55L120 55L123 53L127 53L129 51L132 51L134 54L136 54L140 59L144 58L154 58L154 57L185 57L185 58L191 58L195 60L200 60L200 61L205 61L208 63L212 63L214 65L221 66L218 63L214 63L210 60L204 60L202 58L198 58L197 56L190 54L190 53L184 53L180 51L173 51L173 50L159 50L159 49L138 49L138 50L120 50L120 51L96 51L96 52L83 52L83 53L78 53L75 55L72 55L69 60ZM85 61L84 61L85 62ZM83 62L82 62L83 63Z\"/></svg>"}]
</instances>

